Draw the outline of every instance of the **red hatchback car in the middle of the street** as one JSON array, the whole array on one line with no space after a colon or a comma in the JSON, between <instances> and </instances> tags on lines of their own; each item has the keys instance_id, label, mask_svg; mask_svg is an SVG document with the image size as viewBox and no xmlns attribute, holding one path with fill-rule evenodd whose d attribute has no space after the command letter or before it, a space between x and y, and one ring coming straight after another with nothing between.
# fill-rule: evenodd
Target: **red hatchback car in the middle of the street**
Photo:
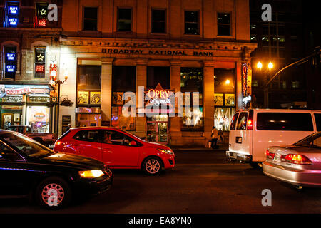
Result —
<instances>
[{"instance_id":1,"label":"red hatchback car in the middle of the street","mask_svg":"<svg viewBox=\"0 0 321 228\"><path fill-rule=\"evenodd\" d=\"M145 142L118 128L71 128L58 138L54 151L92 157L112 169L141 169L150 175L175 166L169 147Z\"/></svg>"}]
</instances>

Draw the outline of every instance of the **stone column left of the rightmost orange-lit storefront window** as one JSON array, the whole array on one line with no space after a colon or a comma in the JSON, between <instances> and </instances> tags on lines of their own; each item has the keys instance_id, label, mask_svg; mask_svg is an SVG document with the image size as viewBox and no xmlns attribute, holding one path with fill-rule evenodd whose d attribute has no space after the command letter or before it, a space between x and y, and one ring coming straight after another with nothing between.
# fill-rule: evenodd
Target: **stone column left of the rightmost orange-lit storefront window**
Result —
<instances>
[{"instance_id":1,"label":"stone column left of the rightmost orange-lit storefront window","mask_svg":"<svg viewBox=\"0 0 321 228\"><path fill-rule=\"evenodd\" d=\"M214 62L204 62L203 115L204 137L210 139L214 125ZM206 142L204 142L206 143Z\"/></svg>"}]
</instances>

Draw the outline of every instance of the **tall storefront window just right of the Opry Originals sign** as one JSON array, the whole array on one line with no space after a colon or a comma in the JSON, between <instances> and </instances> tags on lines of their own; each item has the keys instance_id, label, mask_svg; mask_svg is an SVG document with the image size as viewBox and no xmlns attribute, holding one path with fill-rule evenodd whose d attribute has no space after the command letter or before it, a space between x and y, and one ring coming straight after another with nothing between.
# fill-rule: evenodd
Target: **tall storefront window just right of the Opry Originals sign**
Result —
<instances>
[{"instance_id":1,"label":"tall storefront window just right of the Opry Originals sign","mask_svg":"<svg viewBox=\"0 0 321 228\"><path fill-rule=\"evenodd\" d=\"M184 96L184 111L180 130L203 131L203 68L181 68L180 91ZM199 95L199 108L194 107L196 104L193 103L193 93Z\"/></svg>"}]
</instances>

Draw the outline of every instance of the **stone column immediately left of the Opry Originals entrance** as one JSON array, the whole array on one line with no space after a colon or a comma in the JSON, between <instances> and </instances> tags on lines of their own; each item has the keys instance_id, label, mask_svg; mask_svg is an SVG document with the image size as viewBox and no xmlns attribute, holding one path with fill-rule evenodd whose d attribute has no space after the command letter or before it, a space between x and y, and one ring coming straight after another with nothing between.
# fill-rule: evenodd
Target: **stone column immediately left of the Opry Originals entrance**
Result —
<instances>
[{"instance_id":1,"label":"stone column immediately left of the Opry Originals entrance","mask_svg":"<svg viewBox=\"0 0 321 228\"><path fill-rule=\"evenodd\" d=\"M139 107L138 99L139 99L139 93L138 93L138 87L143 86L144 90L146 90L146 73L147 73L147 62L148 59L145 58L138 58L136 60L136 110ZM144 95L144 94L143 94ZM143 103L142 103L143 104ZM136 111L136 136L138 137L146 137L146 116L138 116L138 112Z\"/></svg>"}]
</instances>

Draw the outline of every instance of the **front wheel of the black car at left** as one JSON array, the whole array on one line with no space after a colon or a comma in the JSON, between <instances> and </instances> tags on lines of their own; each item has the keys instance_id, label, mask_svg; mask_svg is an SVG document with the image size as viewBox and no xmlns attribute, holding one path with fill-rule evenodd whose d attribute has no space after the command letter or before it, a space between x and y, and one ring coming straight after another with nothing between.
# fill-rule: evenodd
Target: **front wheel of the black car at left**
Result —
<instances>
[{"instance_id":1,"label":"front wheel of the black car at left","mask_svg":"<svg viewBox=\"0 0 321 228\"><path fill-rule=\"evenodd\" d=\"M61 177L48 177L37 187L36 199L41 207L60 209L71 201L71 190Z\"/></svg>"}]
</instances>

